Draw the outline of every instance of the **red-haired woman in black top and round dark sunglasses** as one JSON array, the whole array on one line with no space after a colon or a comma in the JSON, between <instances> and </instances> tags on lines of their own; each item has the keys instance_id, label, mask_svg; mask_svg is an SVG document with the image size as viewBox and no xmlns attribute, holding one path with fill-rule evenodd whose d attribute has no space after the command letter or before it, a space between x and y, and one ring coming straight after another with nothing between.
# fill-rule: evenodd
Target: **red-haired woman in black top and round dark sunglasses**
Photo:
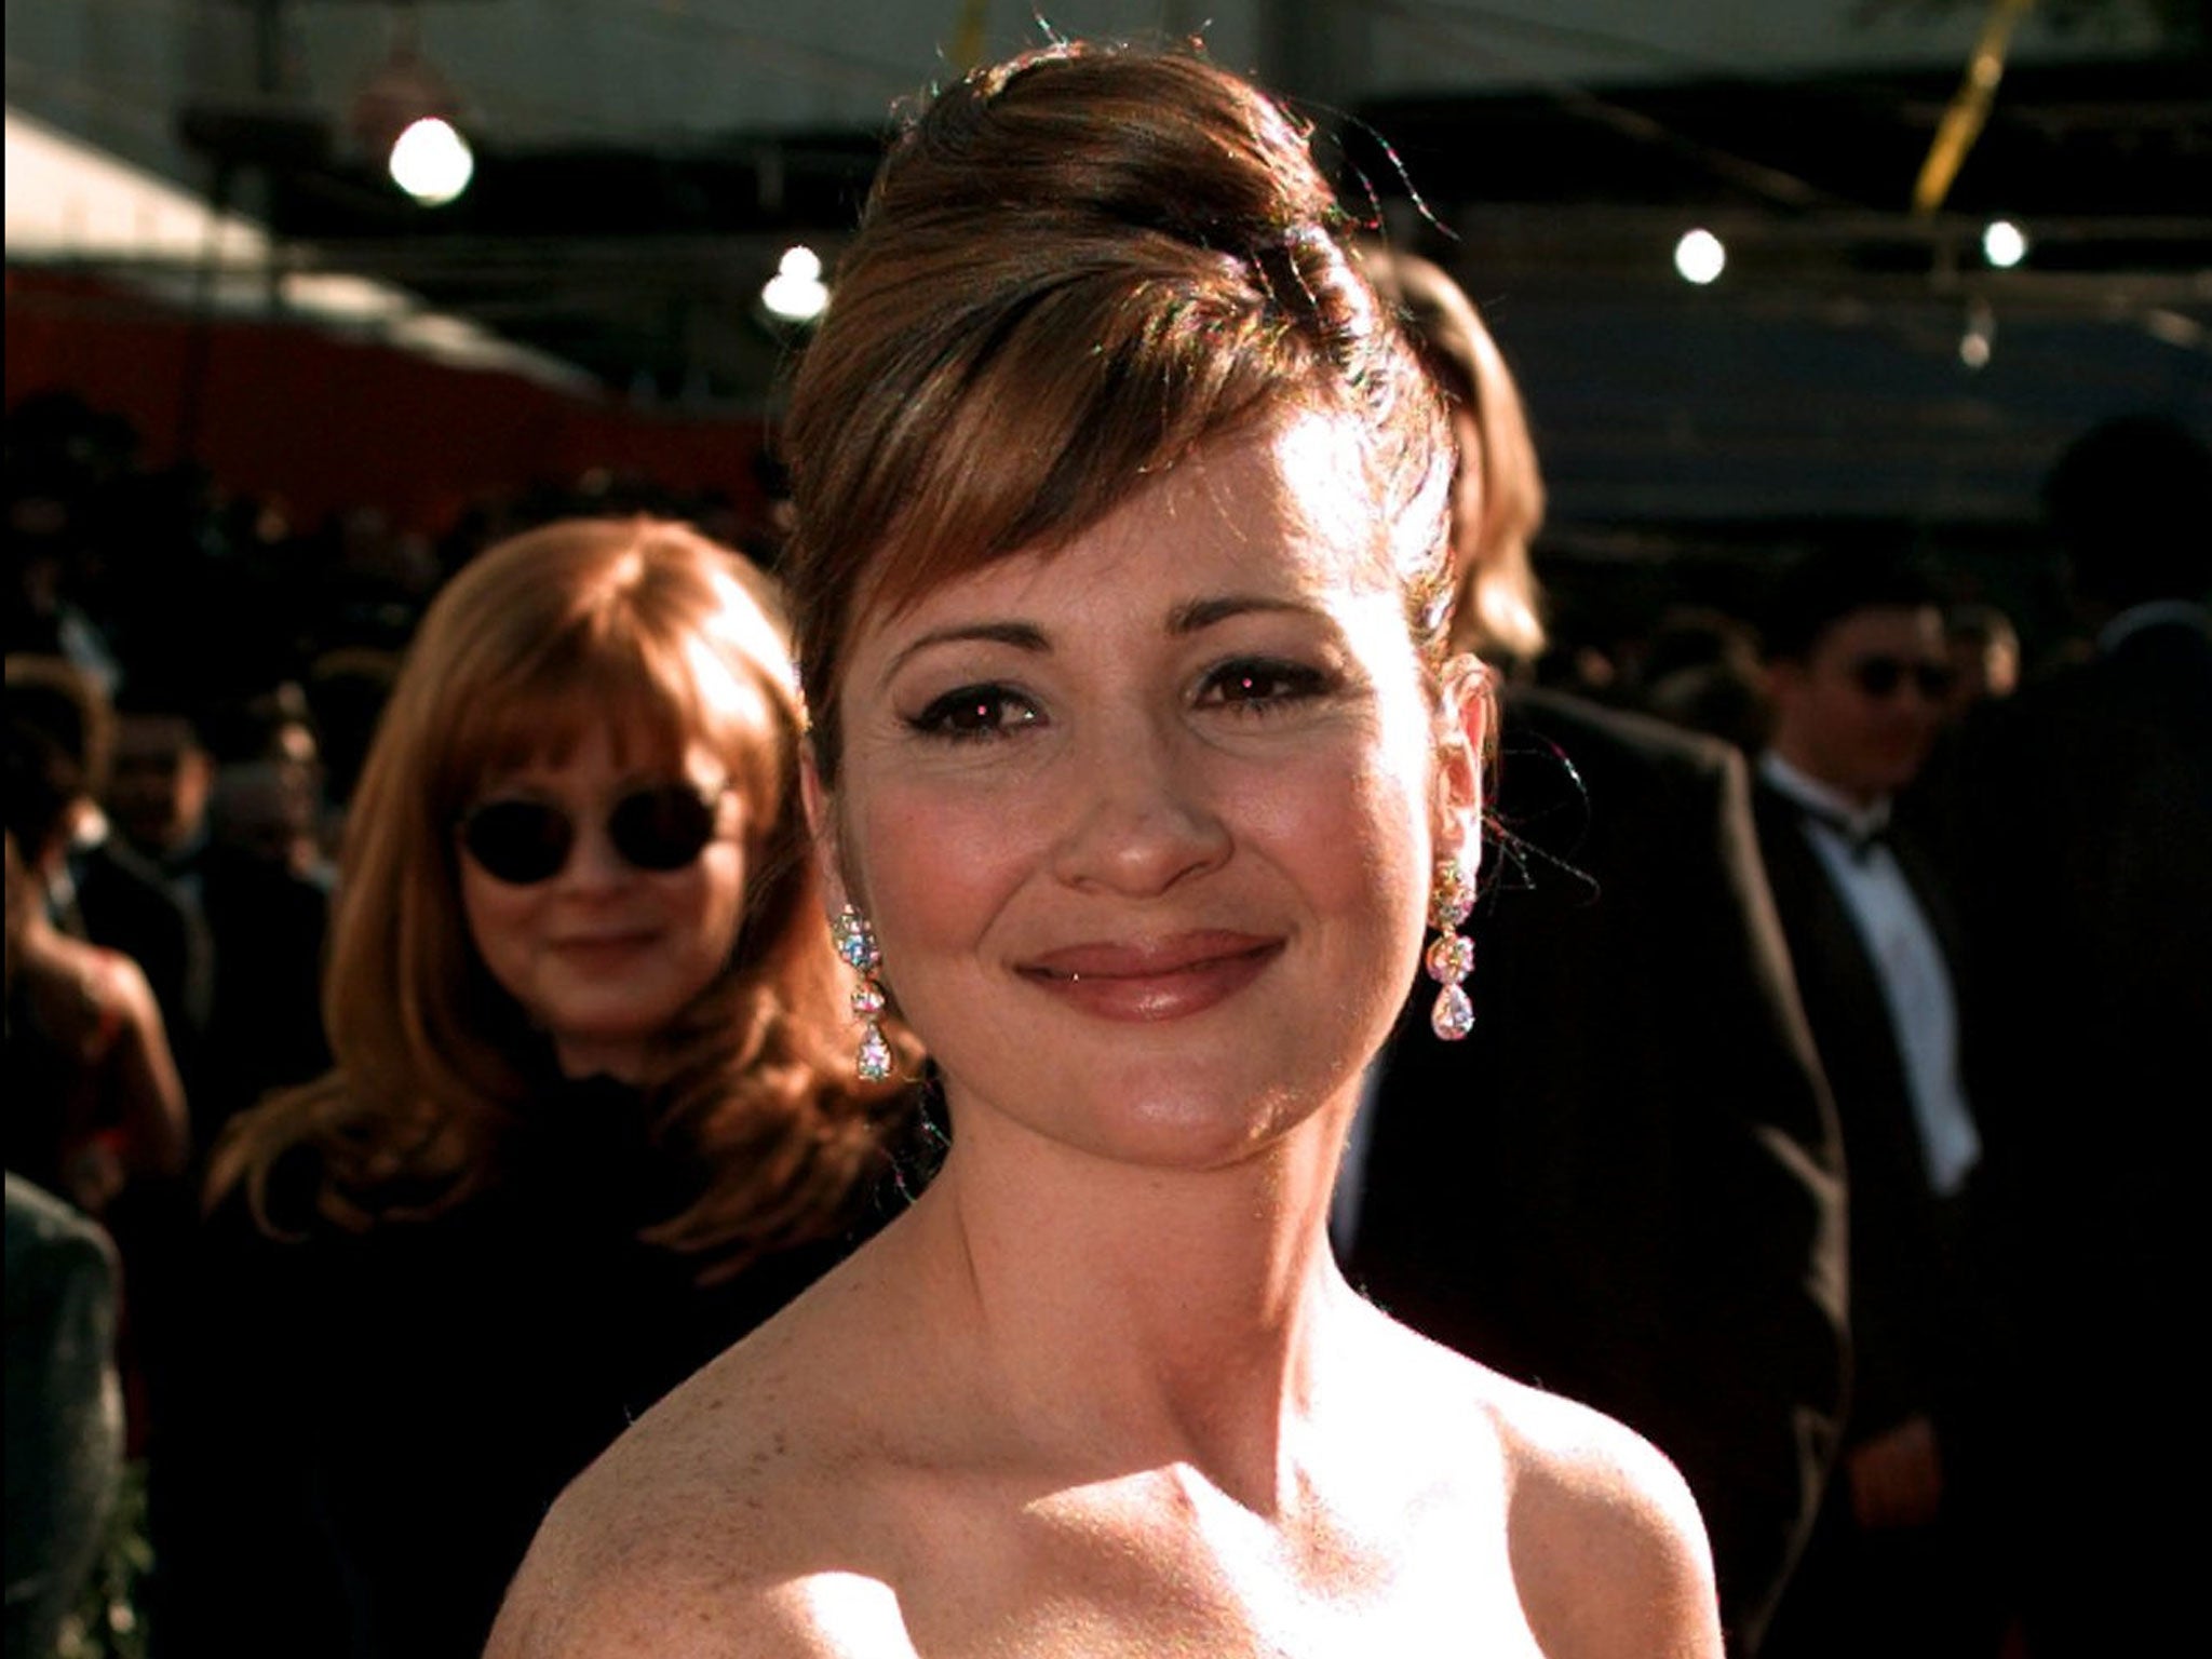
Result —
<instances>
[{"instance_id":1,"label":"red-haired woman in black top and round dark sunglasses","mask_svg":"<svg viewBox=\"0 0 2212 1659\"><path fill-rule=\"evenodd\" d=\"M336 1071L215 1159L181 1652L480 1650L555 1491L876 1225L896 1095L799 743L768 580L684 526L538 529L429 606L347 814Z\"/></svg>"}]
</instances>

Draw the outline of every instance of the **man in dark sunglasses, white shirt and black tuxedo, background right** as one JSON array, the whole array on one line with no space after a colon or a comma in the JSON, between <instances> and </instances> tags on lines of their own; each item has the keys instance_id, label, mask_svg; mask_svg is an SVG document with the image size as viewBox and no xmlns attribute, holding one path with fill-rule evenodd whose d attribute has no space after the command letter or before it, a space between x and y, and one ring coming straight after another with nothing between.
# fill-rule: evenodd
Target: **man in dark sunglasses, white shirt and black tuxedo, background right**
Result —
<instances>
[{"instance_id":1,"label":"man in dark sunglasses, white shirt and black tuxedo, background right","mask_svg":"<svg viewBox=\"0 0 2212 1659\"><path fill-rule=\"evenodd\" d=\"M1966 1270L1982 1137L1960 1079L1960 949L1933 860L1891 825L1944 719L1933 582L1887 549L1787 571L1765 619L1759 843L1849 1181L1854 1391L1763 1655L1995 1652L2002 1610L1960 1447L1984 1310Z\"/></svg>"}]
</instances>

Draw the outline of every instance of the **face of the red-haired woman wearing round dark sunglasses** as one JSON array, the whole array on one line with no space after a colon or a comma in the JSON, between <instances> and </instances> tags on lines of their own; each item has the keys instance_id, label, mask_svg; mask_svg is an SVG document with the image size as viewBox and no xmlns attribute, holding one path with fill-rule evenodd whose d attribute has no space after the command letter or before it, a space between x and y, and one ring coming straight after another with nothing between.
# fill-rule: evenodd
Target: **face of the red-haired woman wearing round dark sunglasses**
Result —
<instances>
[{"instance_id":1,"label":"face of the red-haired woman wearing round dark sunglasses","mask_svg":"<svg viewBox=\"0 0 2212 1659\"><path fill-rule=\"evenodd\" d=\"M743 920L745 801L706 743L681 765L659 745L591 728L560 761L487 776L471 812L524 801L555 807L573 838L544 880L500 880L460 852L460 898L484 967L551 1040L571 1077L637 1082L653 1040L730 960ZM611 834L641 790L690 785L712 803L712 834L677 869L641 869ZM630 807L633 816L637 807Z\"/></svg>"}]
</instances>

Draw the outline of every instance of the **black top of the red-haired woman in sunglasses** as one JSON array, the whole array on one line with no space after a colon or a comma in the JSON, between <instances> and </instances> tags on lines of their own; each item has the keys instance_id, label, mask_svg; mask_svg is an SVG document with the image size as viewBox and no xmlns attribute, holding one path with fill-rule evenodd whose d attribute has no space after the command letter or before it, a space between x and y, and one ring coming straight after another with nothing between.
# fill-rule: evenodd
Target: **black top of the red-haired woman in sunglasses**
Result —
<instances>
[{"instance_id":1,"label":"black top of the red-haired woman in sunglasses","mask_svg":"<svg viewBox=\"0 0 2212 1659\"><path fill-rule=\"evenodd\" d=\"M637 1237L675 1206L635 1091L553 1091L502 1168L358 1234L212 1217L153 1455L161 1652L476 1659L562 1486L902 1203L699 1285Z\"/></svg>"}]
</instances>

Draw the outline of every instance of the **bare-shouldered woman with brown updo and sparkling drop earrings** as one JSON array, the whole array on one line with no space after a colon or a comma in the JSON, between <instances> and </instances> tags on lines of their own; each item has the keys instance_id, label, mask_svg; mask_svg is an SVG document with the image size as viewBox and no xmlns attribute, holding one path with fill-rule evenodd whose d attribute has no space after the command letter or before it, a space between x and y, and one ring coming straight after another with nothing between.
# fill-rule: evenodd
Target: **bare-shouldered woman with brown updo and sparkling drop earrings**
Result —
<instances>
[{"instance_id":1,"label":"bare-shouldered woman with brown updo and sparkling drop earrings","mask_svg":"<svg viewBox=\"0 0 2212 1659\"><path fill-rule=\"evenodd\" d=\"M1719 1652L1679 1475L1329 1256L1486 730L1347 230L1194 53L1055 46L894 144L790 571L827 902L953 1146L568 1489L498 1659Z\"/></svg>"}]
</instances>

